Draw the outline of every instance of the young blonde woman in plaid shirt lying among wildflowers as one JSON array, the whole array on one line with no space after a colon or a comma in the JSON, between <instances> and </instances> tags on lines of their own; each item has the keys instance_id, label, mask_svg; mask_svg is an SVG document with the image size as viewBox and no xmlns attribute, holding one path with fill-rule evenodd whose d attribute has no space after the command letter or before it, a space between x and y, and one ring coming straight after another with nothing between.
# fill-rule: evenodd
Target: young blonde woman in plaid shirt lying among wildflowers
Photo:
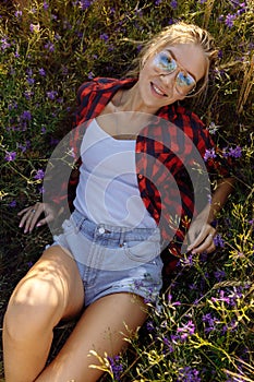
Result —
<instances>
[{"instance_id":1,"label":"young blonde woman in plaid shirt lying among wildflowers","mask_svg":"<svg viewBox=\"0 0 254 382\"><path fill-rule=\"evenodd\" d=\"M206 160L208 172L222 177L211 200L196 206L203 186L192 184L190 168L198 160L202 167L214 145L201 120L179 105L205 91L215 58L206 31L179 23L145 46L137 75L81 86L70 136L80 158L78 177L71 176L74 210L10 299L7 382L97 381L102 372L89 368L98 365L89 351L123 349L124 337L146 320L146 300L158 299L162 264L170 272L184 240L188 251L215 249L211 222L232 179L216 158ZM51 191L20 213L25 231L52 222L52 205L68 200L66 181ZM53 327L74 317L73 333L46 366Z\"/></svg>"}]
</instances>

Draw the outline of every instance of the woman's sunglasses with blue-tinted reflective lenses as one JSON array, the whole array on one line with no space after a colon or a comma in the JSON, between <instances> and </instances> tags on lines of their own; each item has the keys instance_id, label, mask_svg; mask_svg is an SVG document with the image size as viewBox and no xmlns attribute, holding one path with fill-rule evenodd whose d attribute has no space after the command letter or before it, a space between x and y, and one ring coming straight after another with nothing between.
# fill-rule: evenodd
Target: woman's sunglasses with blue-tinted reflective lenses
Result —
<instances>
[{"instance_id":1,"label":"woman's sunglasses with blue-tinted reflective lenses","mask_svg":"<svg viewBox=\"0 0 254 382\"><path fill-rule=\"evenodd\" d=\"M164 74L173 73L179 65L168 50L162 50L154 58L154 65ZM176 89L180 95L186 96L194 92L196 87L195 79L188 72L179 70L176 77Z\"/></svg>"}]
</instances>

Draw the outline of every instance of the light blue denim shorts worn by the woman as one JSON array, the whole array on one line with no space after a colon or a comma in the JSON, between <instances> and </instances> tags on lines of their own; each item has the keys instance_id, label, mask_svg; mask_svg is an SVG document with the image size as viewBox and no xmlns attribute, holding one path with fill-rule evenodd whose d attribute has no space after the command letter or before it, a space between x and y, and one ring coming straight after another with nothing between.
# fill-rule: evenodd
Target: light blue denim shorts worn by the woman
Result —
<instances>
[{"instance_id":1,"label":"light blue denim shorts worn by the woman","mask_svg":"<svg viewBox=\"0 0 254 382\"><path fill-rule=\"evenodd\" d=\"M95 224L77 211L53 236L76 262L85 306L114 293L131 293L156 302L162 286L159 228L125 228Z\"/></svg>"}]
</instances>

